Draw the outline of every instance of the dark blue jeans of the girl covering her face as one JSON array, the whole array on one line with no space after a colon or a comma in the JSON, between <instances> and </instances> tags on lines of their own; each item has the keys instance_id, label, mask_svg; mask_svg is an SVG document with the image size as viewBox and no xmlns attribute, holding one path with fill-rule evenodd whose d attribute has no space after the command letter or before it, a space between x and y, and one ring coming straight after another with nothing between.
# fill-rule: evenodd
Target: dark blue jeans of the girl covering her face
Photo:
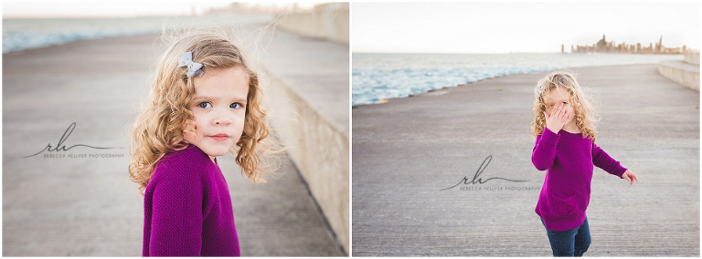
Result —
<instances>
[{"instance_id":1,"label":"dark blue jeans of the girl covering her face","mask_svg":"<svg viewBox=\"0 0 702 259\"><path fill-rule=\"evenodd\" d=\"M541 219L541 223L546 228L543 219ZM566 231L546 229L546 235L548 235L548 242L551 243L553 256L582 256L590 247L590 225L588 225L587 217L577 228Z\"/></svg>"}]
</instances>

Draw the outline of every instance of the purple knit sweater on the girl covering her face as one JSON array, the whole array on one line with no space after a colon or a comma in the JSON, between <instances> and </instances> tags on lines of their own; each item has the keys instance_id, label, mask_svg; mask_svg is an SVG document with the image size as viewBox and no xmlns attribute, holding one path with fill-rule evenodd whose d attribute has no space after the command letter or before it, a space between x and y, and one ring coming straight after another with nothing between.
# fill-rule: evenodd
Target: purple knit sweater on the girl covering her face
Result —
<instances>
[{"instance_id":1,"label":"purple knit sweater on the girl covering her face","mask_svg":"<svg viewBox=\"0 0 702 259\"><path fill-rule=\"evenodd\" d=\"M551 231L574 229L585 220L593 164L619 178L626 171L590 138L563 129L558 134L544 129L531 161L537 170L547 170L535 212Z\"/></svg>"}]
</instances>

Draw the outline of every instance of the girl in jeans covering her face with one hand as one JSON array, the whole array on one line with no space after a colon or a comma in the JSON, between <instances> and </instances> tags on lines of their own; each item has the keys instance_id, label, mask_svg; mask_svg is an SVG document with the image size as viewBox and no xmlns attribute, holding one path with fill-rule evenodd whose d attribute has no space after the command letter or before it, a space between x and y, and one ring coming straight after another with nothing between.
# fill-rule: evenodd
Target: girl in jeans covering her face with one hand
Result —
<instances>
[{"instance_id":1,"label":"girl in jeans covering her face with one hand","mask_svg":"<svg viewBox=\"0 0 702 259\"><path fill-rule=\"evenodd\" d=\"M638 181L595 144L594 110L569 73L554 72L535 88L531 161L546 170L535 212L546 227L554 256L582 256L590 246L585 211L590 203L593 164L619 178Z\"/></svg>"}]
</instances>

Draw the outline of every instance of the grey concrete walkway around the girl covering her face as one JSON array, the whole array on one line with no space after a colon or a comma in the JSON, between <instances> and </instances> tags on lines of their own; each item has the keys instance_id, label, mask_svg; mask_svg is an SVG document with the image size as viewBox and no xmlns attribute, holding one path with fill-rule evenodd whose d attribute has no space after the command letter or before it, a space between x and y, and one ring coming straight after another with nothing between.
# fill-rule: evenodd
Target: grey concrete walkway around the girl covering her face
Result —
<instances>
[{"instance_id":1,"label":"grey concrete walkway around the girl covering her face","mask_svg":"<svg viewBox=\"0 0 702 259\"><path fill-rule=\"evenodd\" d=\"M598 145L640 180L595 168L587 256L699 256L699 93L655 69L573 69L599 100ZM551 256L534 212L545 171L531 163L529 129L547 74L353 109L352 254ZM519 182L440 191L476 171Z\"/></svg>"}]
</instances>

